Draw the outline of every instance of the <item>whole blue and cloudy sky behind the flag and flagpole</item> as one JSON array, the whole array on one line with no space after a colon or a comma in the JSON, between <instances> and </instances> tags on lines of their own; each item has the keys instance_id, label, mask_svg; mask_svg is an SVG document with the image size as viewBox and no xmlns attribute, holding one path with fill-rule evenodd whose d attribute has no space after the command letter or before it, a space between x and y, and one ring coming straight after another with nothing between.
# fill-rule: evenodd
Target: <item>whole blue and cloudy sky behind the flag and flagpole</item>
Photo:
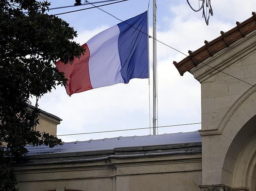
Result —
<instances>
[{"instance_id":1,"label":"whole blue and cloudy sky behind the flag and flagpole","mask_svg":"<svg viewBox=\"0 0 256 191\"><path fill-rule=\"evenodd\" d=\"M61 7L73 5L75 0L49 2L50 7ZM190 2L198 8L198 0ZM192 11L186 0L157 0L157 39L188 54L188 50L197 50L204 45L205 40L215 39L220 36L220 31L230 30L236 26L236 21L242 22L252 16L252 11L256 11L255 0L212 0L211 5L214 15L210 17L207 26L202 18L202 11ZM85 7L90 6L55 9L49 14ZM146 11L148 0L129 0L101 8L121 20L126 20ZM59 17L78 32L78 37L74 40L81 45L102 30L120 22L97 8ZM149 6L149 29L152 36L152 0ZM148 79L132 79L128 84L119 83L92 89L71 97L66 94L64 87L59 86L42 96L39 108L63 119L57 126L57 135L146 128L150 125L152 127L152 39L149 51L150 86ZM184 57L179 52L157 43L158 126L201 122L200 83L189 72L180 76L173 65L173 61L181 61ZM201 129L201 124L174 126L158 128L158 134L198 129ZM59 138L70 142L149 134L153 134L152 130L144 129Z\"/></svg>"}]
</instances>

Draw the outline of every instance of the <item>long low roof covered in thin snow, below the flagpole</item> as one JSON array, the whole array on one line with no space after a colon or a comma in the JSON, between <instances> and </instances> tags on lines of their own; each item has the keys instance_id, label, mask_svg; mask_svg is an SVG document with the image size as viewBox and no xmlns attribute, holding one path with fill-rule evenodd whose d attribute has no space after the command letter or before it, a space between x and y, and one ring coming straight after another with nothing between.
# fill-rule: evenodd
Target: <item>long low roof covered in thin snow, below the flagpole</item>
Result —
<instances>
[{"instance_id":1,"label":"long low roof covered in thin snow, below the flagpole","mask_svg":"<svg viewBox=\"0 0 256 191\"><path fill-rule=\"evenodd\" d=\"M79 152L93 152L106 150L129 150L127 148L156 146L157 149L162 148L163 145L174 145L181 143L201 143L202 139L198 131L162 135L144 135L133 137L114 137L89 141L75 141L70 143L63 143L63 146L55 146L49 148L48 146L32 146L28 145L28 156L33 155L51 155L64 153L79 153ZM125 149L126 148L126 149ZM143 148L145 150L145 148ZM103 152L101 152L103 153Z\"/></svg>"}]
</instances>

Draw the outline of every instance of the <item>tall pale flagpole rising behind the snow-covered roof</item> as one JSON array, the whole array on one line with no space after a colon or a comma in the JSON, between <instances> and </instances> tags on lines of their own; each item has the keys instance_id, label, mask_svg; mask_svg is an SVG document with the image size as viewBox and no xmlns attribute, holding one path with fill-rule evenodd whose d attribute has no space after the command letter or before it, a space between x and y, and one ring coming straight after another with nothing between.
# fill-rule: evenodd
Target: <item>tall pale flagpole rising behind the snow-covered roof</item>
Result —
<instances>
[{"instance_id":1,"label":"tall pale flagpole rising behind the snow-covered roof","mask_svg":"<svg viewBox=\"0 0 256 191\"><path fill-rule=\"evenodd\" d=\"M156 134L156 0L153 0L153 135Z\"/></svg>"}]
</instances>

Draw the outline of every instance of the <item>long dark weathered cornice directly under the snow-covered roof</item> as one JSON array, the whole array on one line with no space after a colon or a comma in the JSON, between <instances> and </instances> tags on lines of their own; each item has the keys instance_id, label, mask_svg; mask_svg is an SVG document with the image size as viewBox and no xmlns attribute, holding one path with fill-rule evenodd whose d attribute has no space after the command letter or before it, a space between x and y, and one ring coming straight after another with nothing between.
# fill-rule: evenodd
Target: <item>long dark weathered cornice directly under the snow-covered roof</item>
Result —
<instances>
[{"instance_id":1,"label":"long dark weathered cornice directly under the snow-covered roof","mask_svg":"<svg viewBox=\"0 0 256 191\"><path fill-rule=\"evenodd\" d=\"M129 147L118 148L116 150L99 150L89 152L74 152L74 153L53 153L53 154L39 154L33 156L25 156L21 159L19 164L13 166L34 166L34 165L53 165L53 164L68 164L68 163L88 163L95 161L112 161L112 163L120 163L120 161L127 161L142 158L163 158L171 157L175 160L183 160L190 158L192 155L201 155L202 143L182 143L173 145L156 145L144 147ZM187 156L187 157L185 157ZM201 157L199 157L201 159ZM169 160L169 159L168 159ZM115 161L115 162L114 162Z\"/></svg>"}]
</instances>

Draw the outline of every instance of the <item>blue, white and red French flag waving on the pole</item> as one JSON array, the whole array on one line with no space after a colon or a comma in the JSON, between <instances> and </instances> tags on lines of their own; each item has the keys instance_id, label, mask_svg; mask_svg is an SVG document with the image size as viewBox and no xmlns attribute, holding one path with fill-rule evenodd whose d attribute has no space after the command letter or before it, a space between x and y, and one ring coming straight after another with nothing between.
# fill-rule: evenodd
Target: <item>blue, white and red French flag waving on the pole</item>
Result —
<instances>
[{"instance_id":1,"label":"blue, white and red French flag waving on the pole","mask_svg":"<svg viewBox=\"0 0 256 191\"><path fill-rule=\"evenodd\" d=\"M148 78L148 11L102 31L83 47L85 54L75 58L72 65L56 63L68 79L69 96L128 83L132 78Z\"/></svg>"}]
</instances>

